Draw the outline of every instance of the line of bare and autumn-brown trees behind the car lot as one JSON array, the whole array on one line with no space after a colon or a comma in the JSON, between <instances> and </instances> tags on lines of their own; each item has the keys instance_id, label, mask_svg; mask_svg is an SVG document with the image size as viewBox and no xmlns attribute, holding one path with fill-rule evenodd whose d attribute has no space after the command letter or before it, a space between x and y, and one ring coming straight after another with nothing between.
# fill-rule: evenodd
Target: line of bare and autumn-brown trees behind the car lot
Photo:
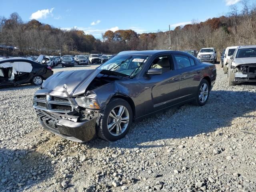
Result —
<instances>
[{"instance_id":1,"label":"line of bare and autumn-brown trees behind the car lot","mask_svg":"<svg viewBox=\"0 0 256 192\"><path fill-rule=\"evenodd\" d=\"M82 30L62 30L37 20L23 22L18 13L12 13L9 18L0 17L0 44L17 46L18 55L167 50L168 35L169 31L138 34L134 30L108 30L102 39L96 39ZM171 50L215 47L220 53L227 46L256 44L256 6L244 1L240 11L231 6L226 16L205 22L192 20L191 24L171 30L170 36Z\"/></svg>"}]
</instances>

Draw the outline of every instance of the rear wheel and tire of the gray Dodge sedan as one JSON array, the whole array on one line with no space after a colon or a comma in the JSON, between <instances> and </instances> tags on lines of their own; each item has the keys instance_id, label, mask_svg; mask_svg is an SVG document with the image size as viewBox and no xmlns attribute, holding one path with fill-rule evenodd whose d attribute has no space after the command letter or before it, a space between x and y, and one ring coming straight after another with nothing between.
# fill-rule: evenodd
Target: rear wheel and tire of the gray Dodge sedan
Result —
<instances>
[{"instance_id":1,"label":"rear wheel and tire of the gray Dodge sedan","mask_svg":"<svg viewBox=\"0 0 256 192\"><path fill-rule=\"evenodd\" d=\"M202 92L204 92L204 94ZM208 101L209 95L210 95L209 82L206 79L202 79L196 91L195 104L198 106L203 106Z\"/></svg>"}]
</instances>

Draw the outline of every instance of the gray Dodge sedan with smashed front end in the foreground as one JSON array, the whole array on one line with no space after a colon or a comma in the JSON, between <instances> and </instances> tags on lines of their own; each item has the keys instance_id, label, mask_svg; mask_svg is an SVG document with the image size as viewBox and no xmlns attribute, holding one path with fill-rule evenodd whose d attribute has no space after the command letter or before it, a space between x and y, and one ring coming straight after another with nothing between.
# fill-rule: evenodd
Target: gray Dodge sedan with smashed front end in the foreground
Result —
<instances>
[{"instance_id":1,"label":"gray Dodge sedan with smashed front end in the foreground","mask_svg":"<svg viewBox=\"0 0 256 192\"><path fill-rule=\"evenodd\" d=\"M213 64L184 52L128 52L94 70L56 73L36 91L34 108L46 130L66 139L115 141L160 110L206 104L215 79Z\"/></svg>"}]
</instances>

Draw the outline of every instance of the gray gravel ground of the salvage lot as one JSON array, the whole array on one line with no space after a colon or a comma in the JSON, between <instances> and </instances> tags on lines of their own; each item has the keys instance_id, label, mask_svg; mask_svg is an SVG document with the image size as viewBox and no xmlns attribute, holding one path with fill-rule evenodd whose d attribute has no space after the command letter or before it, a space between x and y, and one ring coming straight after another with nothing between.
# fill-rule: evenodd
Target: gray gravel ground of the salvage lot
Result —
<instances>
[{"instance_id":1,"label":"gray gravel ground of the salvage lot","mask_svg":"<svg viewBox=\"0 0 256 192\"><path fill-rule=\"evenodd\" d=\"M55 136L32 108L39 87L0 89L0 192L256 191L256 90L228 87L216 66L205 106L144 119L116 142Z\"/></svg>"}]
</instances>

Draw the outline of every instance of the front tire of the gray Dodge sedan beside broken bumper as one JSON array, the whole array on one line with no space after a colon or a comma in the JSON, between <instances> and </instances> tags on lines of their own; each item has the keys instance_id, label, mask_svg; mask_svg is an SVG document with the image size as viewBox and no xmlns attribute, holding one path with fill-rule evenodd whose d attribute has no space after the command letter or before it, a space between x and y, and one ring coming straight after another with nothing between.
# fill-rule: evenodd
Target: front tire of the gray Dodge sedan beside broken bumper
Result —
<instances>
[{"instance_id":1,"label":"front tire of the gray Dodge sedan beside broken bumper","mask_svg":"<svg viewBox=\"0 0 256 192\"><path fill-rule=\"evenodd\" d=\"M123 121L126 123L121 122L120 117L118 116L118 113L119 113L118 110L120 110L121 107L124 107L121 117L123 117ZM112 112L113 110L115 113ZM117 117L117 116L118 116L118 122L116 123L116 120L112 117ZM127 120L127 117L128 117L128 120ZM123 138L130 129L130 126L132 124L132 118L133 118L132 108L126 100L123 100L120 98L114 98L110 100L110 102L106 106L106 109L102 112L100 116L99 126L98 126L98 136L108 141L116 141ZM109 126L109 129L111 130L108 129L108 126ZM121 134L120 134L119 127L122 127Z\"/></svg>"}]
</instances>

